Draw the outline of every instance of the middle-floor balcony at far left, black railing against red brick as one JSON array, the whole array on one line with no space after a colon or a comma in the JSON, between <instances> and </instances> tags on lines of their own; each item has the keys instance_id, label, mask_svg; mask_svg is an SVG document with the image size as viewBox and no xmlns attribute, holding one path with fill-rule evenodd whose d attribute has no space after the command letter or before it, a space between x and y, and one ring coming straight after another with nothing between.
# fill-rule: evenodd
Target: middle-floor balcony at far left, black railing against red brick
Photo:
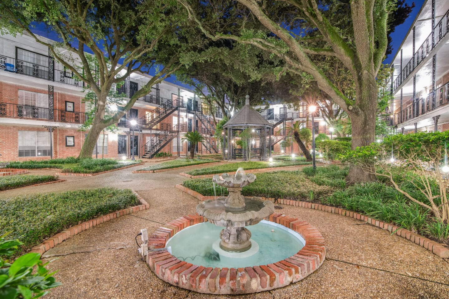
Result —
<instances>
[{"instance_id":1,"label":"middle-floor balcony at far left, black railing against red brick","mask_svg":"<svg viewBox=\"0 0 449 299\"><path fill-rule=\"evenodd\" d=\"M30 105L0 103L0 117L32 119L39 121L56 121L83 124L86 113L35 107Z\"/></svg>"}]
</instances>

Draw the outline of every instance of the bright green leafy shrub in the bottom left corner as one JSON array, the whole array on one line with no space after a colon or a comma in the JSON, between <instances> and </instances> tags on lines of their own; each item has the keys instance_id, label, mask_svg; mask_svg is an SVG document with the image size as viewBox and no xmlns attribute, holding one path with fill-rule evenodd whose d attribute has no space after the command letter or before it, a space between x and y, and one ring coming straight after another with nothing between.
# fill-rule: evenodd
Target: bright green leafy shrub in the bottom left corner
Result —
<instances>
[{"instance_id":1,"label":"bright green leafy shrub in the bottom left corner","mask_svg":"<svg viewBox=\"0 0 449 299\"><path fill-rule=\"evenodd\" d=\"M10 256L23 243L18 239L7 240L7 234L0 236L0 298L36 299L48 294L48 289L60 286L45 268L48 263L40 260L39 253L27 253L13 263L2 256ZM33 271L36 269L36 271Z\"/></svg>"}]
</instances>

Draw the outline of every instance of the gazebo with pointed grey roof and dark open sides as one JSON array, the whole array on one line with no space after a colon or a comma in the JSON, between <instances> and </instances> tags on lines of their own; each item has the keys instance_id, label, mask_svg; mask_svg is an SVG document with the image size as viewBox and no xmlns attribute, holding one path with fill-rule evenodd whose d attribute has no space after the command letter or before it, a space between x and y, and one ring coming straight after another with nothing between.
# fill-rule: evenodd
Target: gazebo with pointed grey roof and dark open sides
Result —
<instances>
[{"instance_id":1,"label":"gazebo with pointed grey roof and dark open sides","mask_svg":"<svg viewBox=\"0 0 449 299\"><path fill-rule=\"evenodd\" d=\"M248 159L251 156L258 156L260 160L267 160L267 157L271 156L271 131L273 126L260 115L259 112L255 111L250 105L250 96L246 96L245 106L243 106L229 121L223 126L226 136L223 138L223 157L227 160L236 159L238 156L242 156L243 160ZM246 146L249 147L247 150L242 148L237 148L236 137L243 130L250 128L254 133L255 137L250 144ZM267 146L268 137L268 146ZM256 140L259 139L258 147ZM268 154L267 154L268 150Z\"/></svg>"}]
</instances>

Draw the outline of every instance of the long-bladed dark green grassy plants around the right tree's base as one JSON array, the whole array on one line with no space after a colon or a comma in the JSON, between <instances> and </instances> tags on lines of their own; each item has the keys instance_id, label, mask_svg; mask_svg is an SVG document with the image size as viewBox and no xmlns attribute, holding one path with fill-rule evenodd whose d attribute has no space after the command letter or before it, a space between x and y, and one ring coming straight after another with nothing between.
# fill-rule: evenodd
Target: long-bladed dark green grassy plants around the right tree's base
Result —
<instances>
[{"instance_id":1,"label":"long-bladed dark green grassy plants around the right tree's base","mask_svg":"<svg viewBox=\"0 0 449 299\"><path fill-rule=\"evenodd\" d=\"M327 167L312 167L302 169L310 181L321 186L333 186L337 190L325 198L321 198L322 204L328 204L350 211L360 212L374 219L394 223L412 232L426 235L438 241L447 242L449 239L449 225L432 217L430 209L410 200L392 186L389 178L379 175L377 182L355 184L346 186L344 178L349 168L340 168L336 165ZM378 171L382 171L379 169ZM402 178L402 179L401 179ZM414 178L415 182L409 178L404 179L401 174L397 174L395 180L400 190L405 191L413 198L430 204L420 190L415 187L419 178ZM434 184L432 189L436 191L438 186Z\"/></svg>"}]
</instances>

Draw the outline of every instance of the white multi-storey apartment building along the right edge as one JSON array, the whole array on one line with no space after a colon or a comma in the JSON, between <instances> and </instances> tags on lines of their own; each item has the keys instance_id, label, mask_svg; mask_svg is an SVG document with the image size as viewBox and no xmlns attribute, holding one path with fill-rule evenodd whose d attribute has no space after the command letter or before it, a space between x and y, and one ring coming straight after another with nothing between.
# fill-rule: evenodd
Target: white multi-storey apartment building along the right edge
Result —
<instances>
[{"instance_id":1,"label":"white multi-storey apartment building along the right edge","mask_svg":"<svg viewBox=\"0 0 449 299\"><path fill-rule=\"evenodd\" d=\"M425 1L392 60L396 132L449 130L448 31L449 2Z\"/></svg>"}]
</instances>

